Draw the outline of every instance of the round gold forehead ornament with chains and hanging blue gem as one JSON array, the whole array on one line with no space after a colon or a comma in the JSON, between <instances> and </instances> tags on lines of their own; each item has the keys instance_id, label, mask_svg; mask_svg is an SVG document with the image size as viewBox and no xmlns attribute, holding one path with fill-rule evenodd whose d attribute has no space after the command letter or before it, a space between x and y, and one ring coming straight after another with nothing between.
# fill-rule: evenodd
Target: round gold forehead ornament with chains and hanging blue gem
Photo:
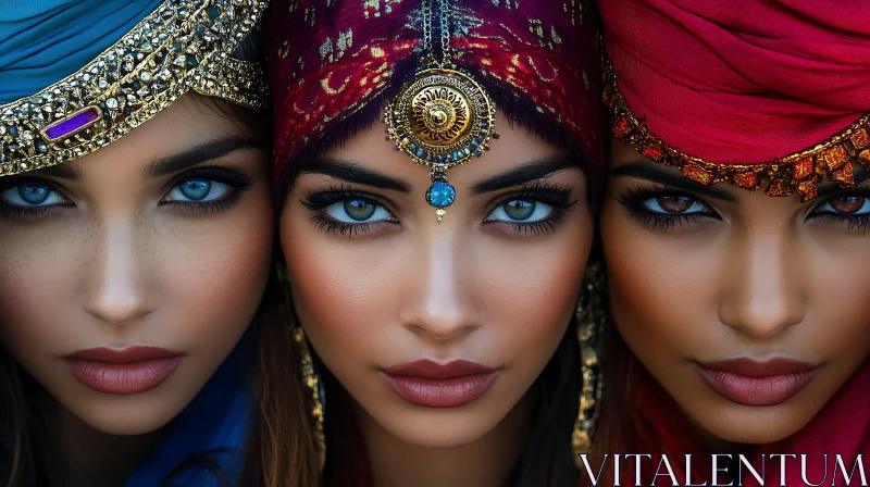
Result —
<instances>
[{"instance_id":1,"label":"round gold forehead ornament with chains and hanging blue gem","mask_svg":"<svg viewBox=\"0 0 870 487\"><path fill-rule=\"evenodd\" d=\"M432 49L433 3L438 1L442 59ZM426 202L440 222L456 200L446 171L489 150L496 108L484 89L450 60L450 0L423 0L423 59L414 78L387 104L387 140L418 164L430 166Z\"/></svg>"}]
</instances>

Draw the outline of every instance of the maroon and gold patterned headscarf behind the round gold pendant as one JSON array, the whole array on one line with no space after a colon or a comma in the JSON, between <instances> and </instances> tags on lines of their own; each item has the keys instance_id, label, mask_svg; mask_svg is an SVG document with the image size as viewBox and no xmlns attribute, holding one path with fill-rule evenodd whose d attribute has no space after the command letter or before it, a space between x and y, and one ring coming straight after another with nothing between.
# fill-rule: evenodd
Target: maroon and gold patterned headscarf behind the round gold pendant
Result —
<instances>
[{"instance_id":1,"label":"maroon and gold patterned headscarf behind the round gold pendant","mask_svg":"<svg viewBox=\"0 0 870 487\"><path fill-rule=\"evenodd\" d=\"M276 0L266 15L278 195L307 158L371 126L422 52L421 1ZM462 0L455 64L499 112L585 155L602 180L596 20L587 0ZM384 142L385 145L389 142Z\"/></svg>"}]
</instances>

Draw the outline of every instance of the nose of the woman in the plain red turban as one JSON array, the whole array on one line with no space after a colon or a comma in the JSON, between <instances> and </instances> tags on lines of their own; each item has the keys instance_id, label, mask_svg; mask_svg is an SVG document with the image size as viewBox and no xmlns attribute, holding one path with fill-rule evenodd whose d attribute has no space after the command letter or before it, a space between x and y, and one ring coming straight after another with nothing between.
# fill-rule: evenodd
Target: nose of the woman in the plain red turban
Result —
<instances>
[{"instance_id":1,"label":"nose of the woman in the plain red turban","mask_svg":"<svg viewBox=\"0 0 870 487\"><path fill-rule=\"evenodd\" d=\"M799 324L806 314L794 236L744 238L726 259L719 319L759 339Z\"/></svg>"}]
</instances>

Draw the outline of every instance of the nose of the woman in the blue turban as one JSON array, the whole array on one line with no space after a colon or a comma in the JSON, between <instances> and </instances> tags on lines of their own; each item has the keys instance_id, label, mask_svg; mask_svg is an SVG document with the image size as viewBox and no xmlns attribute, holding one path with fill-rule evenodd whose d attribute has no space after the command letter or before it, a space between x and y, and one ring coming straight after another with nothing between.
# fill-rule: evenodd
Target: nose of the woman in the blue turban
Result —
<instances>
[{"instance_id":1,"label":"nose of the woman in the blue turban","mask_svg":"<svg viewBox=\"0 0 870 487\"><path fill-rule=\"evenodd\" d=\"M137 236L132 218L100 225L90 270L86 311L105 322L134 323L148 313L148 296L141 269L142 252L137 250Z\"/></svg>"}]
</instances>

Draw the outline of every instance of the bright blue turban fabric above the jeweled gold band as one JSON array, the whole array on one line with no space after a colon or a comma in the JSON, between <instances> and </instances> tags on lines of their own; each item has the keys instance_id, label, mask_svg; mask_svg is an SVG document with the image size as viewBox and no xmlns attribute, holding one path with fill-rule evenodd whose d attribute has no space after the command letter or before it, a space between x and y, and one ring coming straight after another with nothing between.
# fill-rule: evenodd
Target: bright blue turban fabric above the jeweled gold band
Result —
<instances>
[{"instance_id":1,"label":"bright blue turban fabric above the jeweled gold band","mask_svg":"<svg viewBox=\"0 0 870 487\"><path fill-rule=\"evenodd\" d=\"M60 82L115 43L161 0L4 0L0 104Z\"/></svg>"}]
</instances>

